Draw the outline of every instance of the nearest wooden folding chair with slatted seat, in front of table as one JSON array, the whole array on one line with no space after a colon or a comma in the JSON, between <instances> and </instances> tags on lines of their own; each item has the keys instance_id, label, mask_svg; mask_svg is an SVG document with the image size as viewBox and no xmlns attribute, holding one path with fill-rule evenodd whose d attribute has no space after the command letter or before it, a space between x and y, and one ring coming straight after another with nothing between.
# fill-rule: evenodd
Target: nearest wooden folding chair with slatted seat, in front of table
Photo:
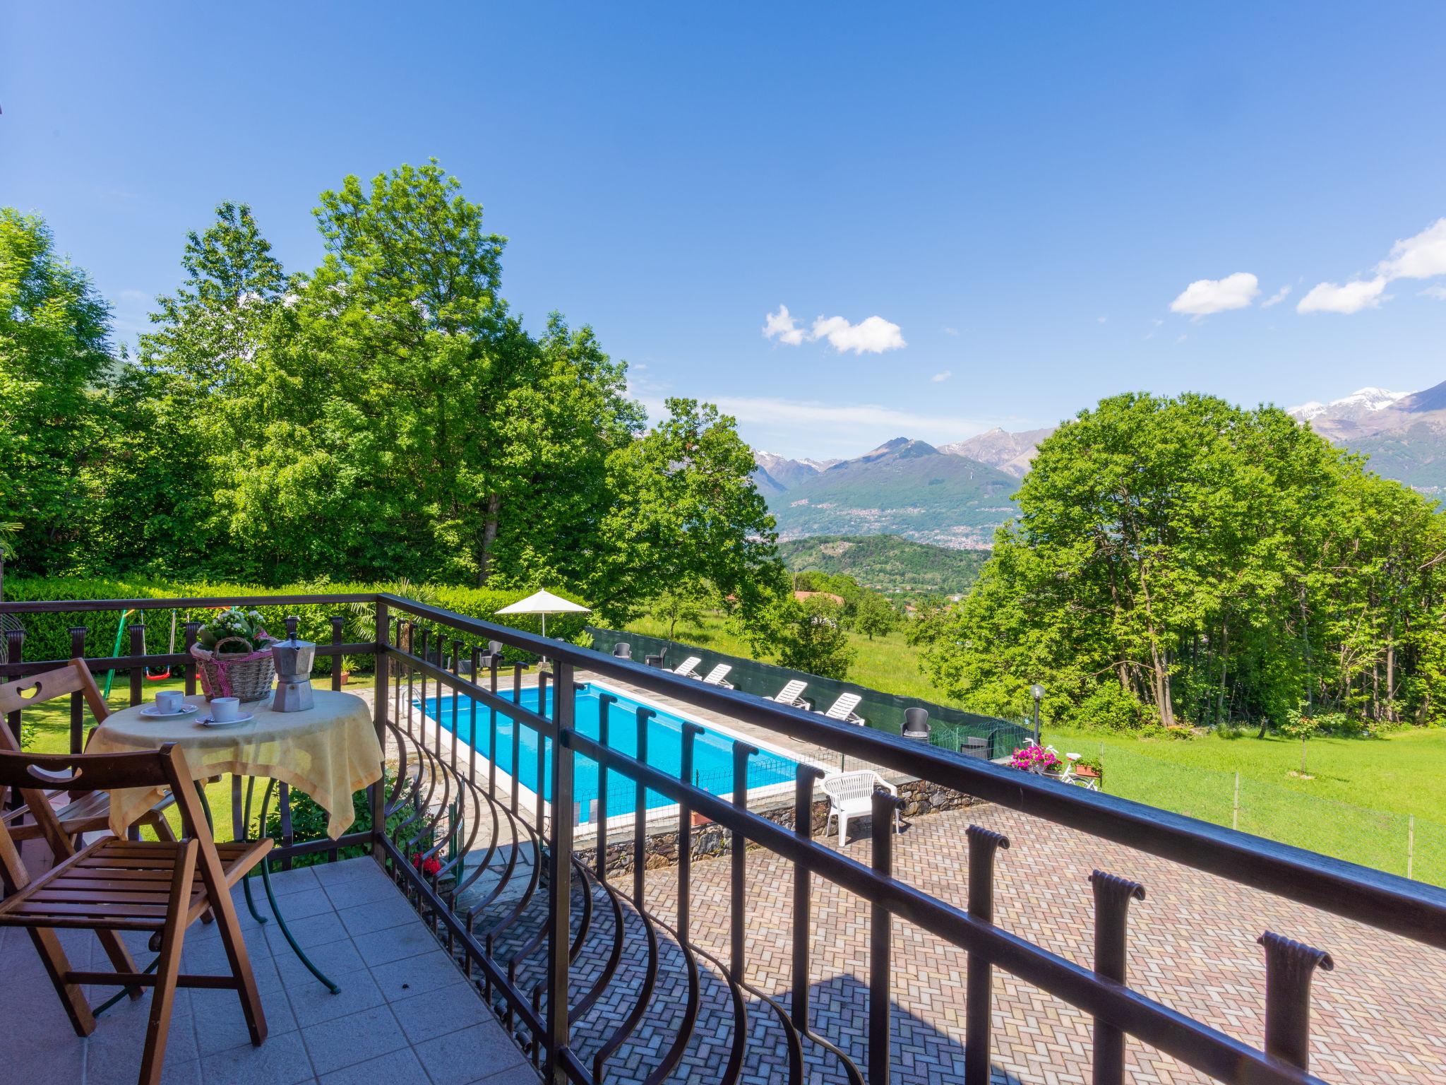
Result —
<instances>
[{"instance_id":1,"label":"nearest wooden folding chair with slatted seat, in front of table","mask_svg":"<svg viewBox=\"0 0 1446 1085\"><path fill-rule=\"evenodd\" d=\"M12 894L0 903L0 927L25 927L45 963L78 1036L90 1036L95 1018L84 984L119 985L139 997L155 987L146 1046L140 1056L140 1085L156 1085L166 1053L171 1007L178 987L234 990L241 1000L252 1043L266 1039L256 978L236 920L231 887L262 862L270 838L217 845L201 810L181 748L166 744L139 754L17 754L0 751L0 791L17 788L29 804L56 864L30 881L10 830L0 825L0 869ZM181 813L179 841L120 841L106 836L77 851L42 787L69 791L111 791L120 787L169 787ZM187 929L214 910L228 975L182 975L181 945ZM56 929L94 930L114 972L71 968ZM156 971L142 972L117 932L161 935Z\"/></svg>"}]
</instances>

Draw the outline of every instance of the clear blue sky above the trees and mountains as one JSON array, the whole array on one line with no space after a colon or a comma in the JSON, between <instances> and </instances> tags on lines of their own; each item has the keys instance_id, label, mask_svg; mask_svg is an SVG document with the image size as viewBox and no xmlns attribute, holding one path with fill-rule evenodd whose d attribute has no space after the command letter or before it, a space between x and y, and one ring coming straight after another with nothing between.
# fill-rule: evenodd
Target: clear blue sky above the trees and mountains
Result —
<instances>
[{"instance_id":1,"label":"clear blue sky above the trees and mountains","mask_svg":"<svg viewBox=\"0 0 1446 1085\"><path fill-rule=\"evenodd\" d=\"M6 4L0 203L129 339L217 201L301 271L318 191L435 156L529 326L847 456L1446 379L1443 41L1440 4Z\"/></svg>"}]
</instances>

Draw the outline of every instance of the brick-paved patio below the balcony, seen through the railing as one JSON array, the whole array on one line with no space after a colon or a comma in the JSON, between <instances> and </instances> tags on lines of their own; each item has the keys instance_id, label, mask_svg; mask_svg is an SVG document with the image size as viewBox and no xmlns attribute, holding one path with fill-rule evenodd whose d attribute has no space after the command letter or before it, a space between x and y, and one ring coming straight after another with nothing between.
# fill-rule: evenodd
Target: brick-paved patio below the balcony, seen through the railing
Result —
<instances>
[{"instance_id":1,"label":"brick-paved patio below the balcony, seen through the railing","mask_svg":"<svg viewBox=\"0 0 1446 1085\"><path fill-rule=\"evenodd\" d=\"M944 900L963 903L964 826L977 822L1009 836L998 862L996 919L1006 929L1080 963L1092 953L1093 868L1141 881L1148 898L1131 913L1131 981L1142 992L1252 1044L1262 1043L1264 959L1257 936L1272 929L1330 950L1336 971L1316 982L1313 1063L1342 1085L1440 1085L1446 1081L1446 953L1423 949L1359 923L1284 901L1150 855L1058 829L1002 807L931 814L897 838L897 871ZM862 826L860 826L862 829ZM836 839L836 838L834 838ZM868 861L868 833L847 848ZM729 861L694 865L693 939L719 958L727 952ZM625 880L625 885L630 880ZM649 909L675 920L675 871L648 875ZM749 979L787 1004L792 872L777 856L749 852ZM635 922L635 920L633 920ZM814 888L813 1021L860 1065L868 1031L868 910L829 884ZM636 933L636 932L635 932ZM599 943L602 948L602 943ZM902 923L894 936L895 1081L962 1081L964 955ZM590 968L587 959L578 971ZM636 961L625 963L630 981ZM609 1063L610 1081L630 1081L671 1040L685 982L681 956L664 949L659 992L639 1033ZM619 984L626 990L628 979ZM716 1079L727 1052L726 994L704 978L704 1014L685 1059L690 1081ZM626 1011L615 1000L577 1029L587 1050ZM1084 1085L1090 1079L1090 1021L1012 977L995 979L998 1082ZM746 1081L787 1079L782 1033L761 1001L750 1007ZM846 1081L831 1056L807 1046L810 1081ZM1131 1043L1129 1081L1160 1085L1205 1078L1158 1052ZM681 1075L680 1078L681 1079Z\"/></svg>"}]
</instances>

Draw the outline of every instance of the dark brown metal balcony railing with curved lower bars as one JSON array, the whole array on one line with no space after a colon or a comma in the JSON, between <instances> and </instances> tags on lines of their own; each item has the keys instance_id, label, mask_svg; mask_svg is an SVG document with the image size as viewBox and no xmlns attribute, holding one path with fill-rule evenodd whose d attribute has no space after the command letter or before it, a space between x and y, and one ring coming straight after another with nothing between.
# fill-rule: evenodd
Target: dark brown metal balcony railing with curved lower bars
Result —
<instances>
[{"instance_id":1,"label":"dark brown metal balcony railing with curved lower bars","mask_svg":"<svg viewBox=\"0 0 1446 1085\"><path fill-rule=\"evenodd\" d=\"M895 800L891 794L881 790L873 796L870 859L859 862L813 838L820 770L798 765L791 823L777 814L763 816L749 807L749 760L758 749L743 741L735 742L730 799L693 783L693 757L701 728L684 728L681 771L677 775L661 771L648 762L648 709L623 716L612 710L616 700L603 696L597 733L583 733L576 716L580 671L1343 916L1423 948L1446 949L1446 891L1440 888L1112 796L1069 788L866 728L834 723L393 595L0 603L0 613L13 613L23 622L25 615L36 612L163 610L233 603L320 606L333 612L350 603L375 608L373 639L343 642L346 619L335 613L331 642L318 645L318 655L333 660L372 657L376 728L395 765L390 791L385 793L380 786L372 788L373 827L369 832L353 833L340 842L288 841L275 852L276 862L288 864L298 855L330 852L335 846L369 845L551 1082L602 1082L615 1071L610 1060L643 1023L668 946L681 956L685 994L671 1042L652 1046L651 1063L629 1071L648 1082L661 1082L678 1071L696 1039L703 988L714 982L726 988L723 1014L730 1021L729 1050L717 1068L722 1081L737 1081L742 1073L752 1005L753 1013L766 1017L774 1034L782 1037L787 1056L775 1069L778 1079L804 1081L807 1050L814 1058L821 1053L831 1059L837 1073L852 1082L888 1082L894 1071L891 1001L897 981L891 933L897 924L928 932L966 958L963 1079L967 1085L989 1082L993 969L1012 974L1093 1017L1093 1081L1099 1085L1124 1081L1128 1039L1220 1082L1317 1082L1320 1078L1309 1071L1310 988L1314 971L1332 966L1323 949L1293 940L1290 930L1261 932L1258 952L1264 956L1267 975L1265 1031L1264 1049L1257 1049L1129 985L1126 917L1131 901L1144 895L1137 882L1109 871L1095 871L1090 877L1095 961L1093 968L1086 968L993 922L996 852L1009 846L1002 835L979 826L966 833L967 900L962 909L894 877L897 843L891 823ZM25 660L23 635L19 631L6 635L9 663L0 664L0 677L17 677L55 664ZM188 626L188 645L194 637L195 626ZM84 628L77 626L72 638L77 654L82 654ZM493 642L510 650L509 655L523 654L545 663L535 667L503 663L492 650ZM142 699L146 665L184 668L187 689L194 690L195 671L188 654L145 654L134 629L130 644L129 655L93 658L90 664L97 671L127 670L132 703ZM333 667L334 687L340 681L338 670ZM539 689L536 707L523 705L525 677ZM466 712L473 741L454 741L424 710L428 699L438 703L451 699L454 720L458 710ZM72 748L80 749L84 716L78 699L71 720ZM19 719L12 716L9 722L19 732ZM610 742L622 728L636 728L636 755ZM526 742L525 732L529 732ZM522 775L521 758L536 758L534 788L523 788L499 770L499 742L510 744L510 749L502 751L502 761L518 777ZM574 801L574 770L580 760L596 765L599 775L600 809L583 823ZM612 777L635 786L632 809L609 809ZM645 893L648 836L659 823L656 812L649 814L646 791L669 803L664 820L668 830L677 833L671 923L659 917ZM694 813L722 826L729 843L724 953L714 953L704 945L693 919ZM283 825L289 823L285 797L282 819ZM625 842L630 836L633 849L628 880L619 880L609 869L609 827L615 830L616 848L617 826L626 826L622 830ZM756 861L750 859L749 848L766 849L792 868L788 920L792 985L787 997L769 994L748 979L748 867ZM844 1037L826 1034L810 1008L810 962L814 939L820 935L811 914L816 878L837 884L868 907L869 1008L863 1058L856 1058L857 1043L846 1044ZM594 945L599 940L602 945ZM638 955L641 966L619 966L629 953ZM912 979L917 982L920 977ZM604 1003L613 1005L615 1013L607 1027L593 1027L584 1043L576 1029ZM1446 1007L1437 1010L1446 1013Z\"/></svg>"}]
</instances>

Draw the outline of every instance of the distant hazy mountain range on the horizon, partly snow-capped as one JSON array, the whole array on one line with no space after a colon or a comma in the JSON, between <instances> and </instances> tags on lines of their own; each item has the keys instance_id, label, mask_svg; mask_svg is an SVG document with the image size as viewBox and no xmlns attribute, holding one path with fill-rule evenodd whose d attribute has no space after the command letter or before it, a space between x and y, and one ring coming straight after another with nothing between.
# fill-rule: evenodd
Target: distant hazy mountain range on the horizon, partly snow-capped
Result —
<instances>
[{"instance_id":1,"label":"distant hazy mountain range on the horizon, partly snow-capped","mask_svg":"<svg viewBox=\"0 0 1446 1085\"><path fill-rule=\"evenodd\" d=\"M1326 440L1368 456L1371 470L1388 479L1424 493L1446 490L1446 382L1423 392L1362 388L1288 412ZM1051 433L995 428L937 448L897 437L852 460L755 451L753 480L785 540L895 534L982 550L1014 515L1011 498Z\"/></svg>"}]
</instances>

